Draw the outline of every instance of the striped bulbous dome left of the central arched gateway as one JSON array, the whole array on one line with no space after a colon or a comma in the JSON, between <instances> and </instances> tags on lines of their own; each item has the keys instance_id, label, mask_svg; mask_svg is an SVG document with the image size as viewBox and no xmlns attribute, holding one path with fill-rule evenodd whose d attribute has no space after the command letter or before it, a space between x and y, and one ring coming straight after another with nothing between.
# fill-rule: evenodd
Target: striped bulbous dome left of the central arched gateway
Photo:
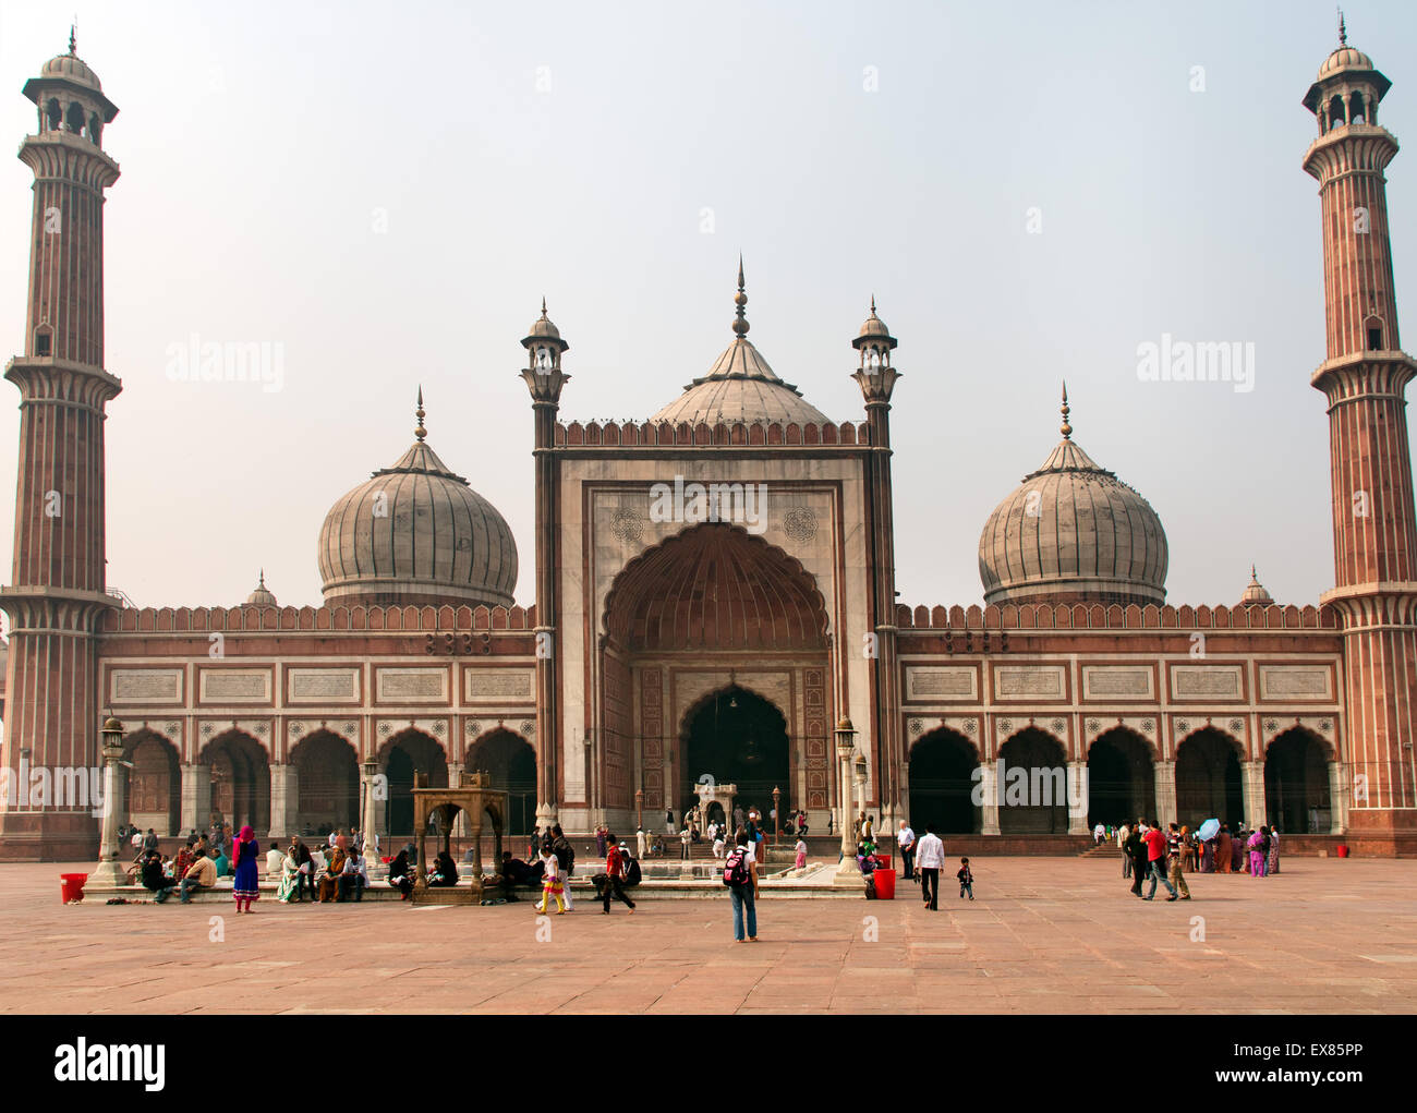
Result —
<instances>
[{"instance_id":1,"label":"striped bulbous dome left of the central arched gateway","mask_svg":"<svg viewBox=\"0 0 1417 1113\"><path fill-rule=\"evenodd\" d=\"M517 546L506 519L424 442L339 499L320 527L326 603L513 605Z\"/></svg>"}]
</instances>

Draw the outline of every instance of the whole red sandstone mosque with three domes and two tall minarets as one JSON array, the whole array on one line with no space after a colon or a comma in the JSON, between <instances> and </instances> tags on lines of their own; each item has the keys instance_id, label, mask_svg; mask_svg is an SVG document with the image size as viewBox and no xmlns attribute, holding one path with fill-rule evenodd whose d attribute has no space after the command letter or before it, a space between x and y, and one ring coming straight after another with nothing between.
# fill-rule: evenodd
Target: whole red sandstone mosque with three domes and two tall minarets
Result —
<instances>
[{"instance_id":1,"label":"whole red sandstone mosque with three domes and two tall minarets","mask_svg":"<svg viewBox=\"0 0 1417 1113\"><path fill-rule=\"evenodd\" d=\"M95 767L109 715L126 727L123 814L159 834L220 814L281 838L397 838L415 773L485 770L513 831L662 829L713 783L714 807L777 801L819 832L860 808L1037 848L1146 814L1271 822L1289 849L1417 851L1414 363L1389 250L1389 84L1340 35L1304 96L1333 485L1335 587L1318 600L1281 605L1251 574L1223 605L1168 603L1162 522L1074 440L1064 393L1060 438L983 523L982 601L898 601L897 340L873 302L850 339L863 410L828 417L748 339L740 265L727 347L643 421L563 415L570 345L543 303L520 371L534 598L513 597L521 550L419 393L408 451L319 527L319 607L281 605L262 576L237 605L139 608L105 583L118 108L71 38L24 85L34 218L0 588L3 763L21 791L0 801L0 858L94 858L92 810L37 801L21 774ZM928 458L905 447L903 464ZM1010 798L1020 767L1085 771L1085 805Z\"/></svg>"}]
</instances>

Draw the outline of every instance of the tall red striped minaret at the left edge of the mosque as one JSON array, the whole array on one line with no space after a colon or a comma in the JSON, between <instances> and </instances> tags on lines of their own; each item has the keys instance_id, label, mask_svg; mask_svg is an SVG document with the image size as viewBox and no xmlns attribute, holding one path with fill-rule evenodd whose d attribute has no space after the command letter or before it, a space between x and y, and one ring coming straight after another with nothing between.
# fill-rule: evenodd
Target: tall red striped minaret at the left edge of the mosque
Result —
<instances>
[{"instance_id":1,"label":"tall red striped minaret at the left edge of the mosque","mask_svg":"<svg viewBox=\"0 0 1417 1113\"><path fill-rule=\"evenodd\" d=\"M103 370L103 190L118 163L103 125L118 109L69 51L24 85L37 129L20 145L34 172L20 390L0 859L92 861L98 817L99 686L94 630L103 580L103 407L122 384Z\"/></svg>"}]
</instances>

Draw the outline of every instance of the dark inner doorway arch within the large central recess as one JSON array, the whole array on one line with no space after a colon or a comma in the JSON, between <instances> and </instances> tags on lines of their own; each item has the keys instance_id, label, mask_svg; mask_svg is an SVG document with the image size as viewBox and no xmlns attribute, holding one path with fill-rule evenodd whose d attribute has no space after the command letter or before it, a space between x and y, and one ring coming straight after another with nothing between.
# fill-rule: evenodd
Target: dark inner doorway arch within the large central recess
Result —
<instances>
[{"instance_id":1,"label":"dark inner doorway arch within the large central recess","mask_svg":"<svg viewBox=\"0 0 1417 1113\"><path fill-rule=\"evenodd\" d=\"M730 685L706 696L684 716L684 766L679 810L699 802L696 784L737 784L734 808L757 807L767 821L772 790L781 791L782 812L792 807L788 768L788 725L772 703L755 692Z\"/></svg>"}]
</instances>

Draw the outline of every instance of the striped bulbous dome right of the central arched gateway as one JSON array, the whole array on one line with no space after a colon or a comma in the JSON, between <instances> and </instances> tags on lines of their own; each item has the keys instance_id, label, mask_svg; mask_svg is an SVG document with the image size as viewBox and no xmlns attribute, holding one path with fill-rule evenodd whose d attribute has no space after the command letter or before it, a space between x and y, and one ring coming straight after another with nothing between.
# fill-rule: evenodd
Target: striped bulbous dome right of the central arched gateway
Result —
<instances>
[{"instance_id":1,"label":"striped bulbous dome right of the central arched gateway","mask_svg":"<svg viewBox=\"0 0 1417 1113\"><path fill-rule=\"evenodd\" d=\"M1064 387L1063 441L979 536L985 603L1165 603L1161 518L1073 442L1067 415Z\"/></svg>"}]
</instances>

